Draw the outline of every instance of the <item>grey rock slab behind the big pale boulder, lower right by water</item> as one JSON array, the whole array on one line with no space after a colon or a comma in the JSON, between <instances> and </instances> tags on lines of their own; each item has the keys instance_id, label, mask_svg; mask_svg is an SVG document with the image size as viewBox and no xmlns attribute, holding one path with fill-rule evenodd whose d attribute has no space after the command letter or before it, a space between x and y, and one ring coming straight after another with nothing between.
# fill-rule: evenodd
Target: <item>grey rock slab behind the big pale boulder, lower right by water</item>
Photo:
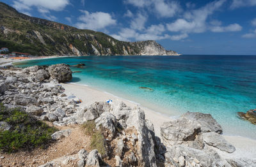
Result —
<instances>
[{"instance_id":1,"label":"grey rock slab behind the big pale boulder, lower right by water","mask_svg":"<svg viewBox=\"0 0 256 167\"><path fill-rule=\"evenodd\" d=\"M202 132L216 132L222 133L222 127L220 124L212 118L211 114L199 113L199 112L187 112L181 115L189 120L193 120L201 125Z\"/></svg>"}]
</instances>

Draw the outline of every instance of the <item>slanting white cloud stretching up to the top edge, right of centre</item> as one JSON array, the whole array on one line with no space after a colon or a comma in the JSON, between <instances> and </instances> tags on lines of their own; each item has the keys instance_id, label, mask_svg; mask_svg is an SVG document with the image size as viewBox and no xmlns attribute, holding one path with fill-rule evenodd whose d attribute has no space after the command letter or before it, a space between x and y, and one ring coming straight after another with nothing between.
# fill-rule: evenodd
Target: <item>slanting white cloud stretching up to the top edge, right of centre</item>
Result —
<instances>
[{"instance_id":1,"label":"slanting white cloud stretching up to the top edge, right of centre","mask_svg":"<svg viewBox=\"0 0 256 167\"><path fill-rule=\"evenodd\" d=\"M203 33L207 30L206 20L209 15L223 5L226 0L214 1L197 10L184 13L184 18L179 18L170 24L166 24L169 31L187 33Z\"/></svg>"}]
</instances>

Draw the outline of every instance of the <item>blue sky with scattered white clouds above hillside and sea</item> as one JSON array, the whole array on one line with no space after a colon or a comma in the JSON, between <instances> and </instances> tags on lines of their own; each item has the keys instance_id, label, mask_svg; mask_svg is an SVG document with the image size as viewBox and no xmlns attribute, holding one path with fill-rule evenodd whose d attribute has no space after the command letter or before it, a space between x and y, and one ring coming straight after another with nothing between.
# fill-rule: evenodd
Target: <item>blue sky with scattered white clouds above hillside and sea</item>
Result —
<instances>
[{"instance_id":1,"label":"blue sky with scattered white clouds above hillside and sea","mask_svg":"<svg viewBox=\"0 0 256 167\"><path fill-rule=\"evenodd\" d=\"M181 54L256 55L256 0L0 0L33 17L156 40Z\"/></svg>"}]
</instances>

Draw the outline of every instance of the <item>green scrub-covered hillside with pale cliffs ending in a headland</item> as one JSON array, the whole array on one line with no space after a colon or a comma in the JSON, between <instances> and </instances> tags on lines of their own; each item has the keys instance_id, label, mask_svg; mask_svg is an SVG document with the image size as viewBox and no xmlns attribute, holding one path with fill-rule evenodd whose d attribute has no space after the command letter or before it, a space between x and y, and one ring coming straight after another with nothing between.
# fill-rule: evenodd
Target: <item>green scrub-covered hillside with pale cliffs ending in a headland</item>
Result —
<instances>
[{"instance_id":1,"label":"green scrub-covered hillside with pale cliffs ending in a headland","mask_svg":"<svg viewBox=\"0 0 256 167\"><path fill-rule=\"evenodd\" d=\"M4 3L0 47L33 55L178 55L156 41L118 41L104 33L29 17Z\"/></svg>"}]
</instances>

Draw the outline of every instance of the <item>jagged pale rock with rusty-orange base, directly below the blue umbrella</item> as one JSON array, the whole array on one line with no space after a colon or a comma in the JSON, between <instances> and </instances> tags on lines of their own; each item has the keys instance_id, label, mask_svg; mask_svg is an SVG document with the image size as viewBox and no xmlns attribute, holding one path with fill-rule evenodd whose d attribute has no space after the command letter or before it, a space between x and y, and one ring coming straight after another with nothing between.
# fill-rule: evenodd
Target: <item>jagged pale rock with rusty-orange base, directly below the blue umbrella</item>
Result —
<instances>
[{"instance_id":1,"label":"jagged pale rock with rusty-orange base, directly below the blue umbrella","mask_svg":"<svg viewBox=\"0 0 256 167\"><path fill-rule=\"evenodd\" d=\"M99 129L103 127L107 131L105 131L106 135L109 138L113 138L116 133L117 121L115 116L112 113L104 112L100 115L99 118L95 119L96 128Z\"/></svg>"}]
</instances>

